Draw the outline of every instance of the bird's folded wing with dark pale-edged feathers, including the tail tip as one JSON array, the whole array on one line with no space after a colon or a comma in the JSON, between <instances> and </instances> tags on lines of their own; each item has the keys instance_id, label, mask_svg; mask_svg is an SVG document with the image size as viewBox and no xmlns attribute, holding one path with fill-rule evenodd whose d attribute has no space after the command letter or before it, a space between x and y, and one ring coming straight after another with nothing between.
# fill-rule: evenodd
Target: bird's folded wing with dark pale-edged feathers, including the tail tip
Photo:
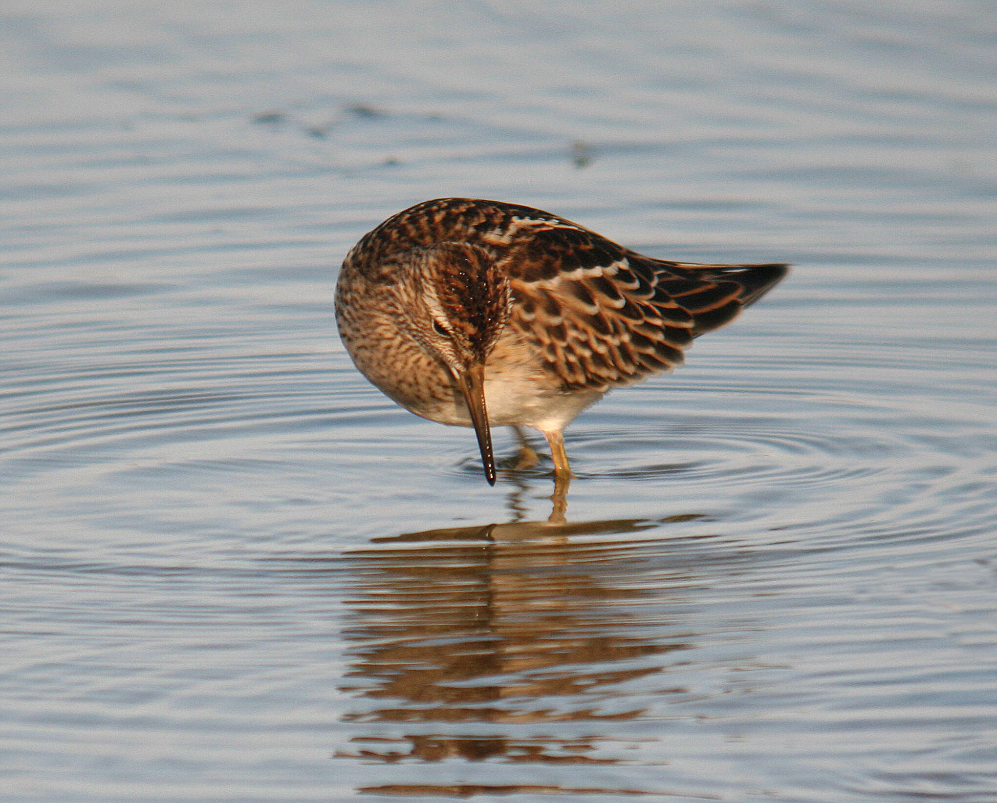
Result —
<instances>
[{"instance_id":1,"label":"bird's folded wing with dark pale-edged feathers, including the tail tip","mask_svg":"<svg viewBox=\"0 0 997 803\"><path fill-rule=\"evenodd\" d=\"M693 338L731 321L786 273L783 265L652 259L546 213L517 217L485 239L501 241L509 326L570 390L607 390L671 370Z\"/></svg>"}]
</instances>

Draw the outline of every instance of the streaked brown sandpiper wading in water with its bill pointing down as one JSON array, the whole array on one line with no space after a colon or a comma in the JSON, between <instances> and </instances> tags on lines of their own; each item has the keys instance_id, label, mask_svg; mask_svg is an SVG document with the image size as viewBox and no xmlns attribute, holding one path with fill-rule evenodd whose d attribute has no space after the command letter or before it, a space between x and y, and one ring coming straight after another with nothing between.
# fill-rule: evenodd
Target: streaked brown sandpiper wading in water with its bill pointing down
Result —
<instances>
[{"instance_id":1,"label":"streaked brown sandpiper wading in water with its bill pointing down","mask_svg":"<svg viewBox=\"0 0 997 803\"><path fill-rule=\"evenodd\" d=\"M566 481L564 426L612 388L680 365L693 338L787 270L652 259L539 209L439 198L350 250L336 319L353 362L388 397L475 427L489 482L499 424L543 432Z\"/></svg>"}]
</instances>

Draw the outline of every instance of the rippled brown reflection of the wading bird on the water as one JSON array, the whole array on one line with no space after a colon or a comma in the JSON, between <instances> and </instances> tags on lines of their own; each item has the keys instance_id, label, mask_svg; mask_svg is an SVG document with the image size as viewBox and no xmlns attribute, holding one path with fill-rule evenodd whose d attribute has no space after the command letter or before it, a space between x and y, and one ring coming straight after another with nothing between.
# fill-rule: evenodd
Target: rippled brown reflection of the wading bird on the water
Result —
<instances>
[{"instance_id":1,"label":"rippled brown reflection of the wading bird on the water","mask_svg":"<svg viewBox=\"0 0 997 803\"><path fill-rule=\"evenodd\" d=\"M346 556L355 597L343 690L357 703L346 720L377 725L338 757L593 768L621 760L620 742L633 739L614 737L611 723L640 717L646 695L668 689L659 680L636 694L620 686L640 686L691 638L660 619L667 588L648 565L663 549L640 533L703 517L557 523L556 513L555 500L554 521L406 533ZM687 585L681 571L668 575ZM532 789L520 786L502 791ZM449 788L362 791L475 793Z\"/></svg>"}]
</instances>

